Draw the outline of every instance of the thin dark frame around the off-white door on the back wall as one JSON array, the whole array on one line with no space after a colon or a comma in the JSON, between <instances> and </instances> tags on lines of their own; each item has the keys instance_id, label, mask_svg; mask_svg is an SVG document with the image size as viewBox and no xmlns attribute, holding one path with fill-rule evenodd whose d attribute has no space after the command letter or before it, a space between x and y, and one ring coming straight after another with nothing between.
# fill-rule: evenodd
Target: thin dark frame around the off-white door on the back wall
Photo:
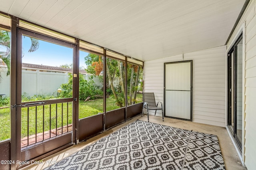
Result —
<instances>
[{"instance_id":1,"label":"thin dark frame around the off-white door on the back wall","mask_svg":"<svg viewBox=\"0 0 256 170\"><path fill-rule=\"evenodd\" d=\"M175 63L190 63L190 119L182 119L178 117L171 117L171 116L166 116L166 64L175 64ZM187 60L187 61L175 61L175 62L168 62L164 63L164 117L170 117L174 119L181 119L181 120L186 120L186 121L193 121L193 60Z\"/></svg>"}]
</instances>

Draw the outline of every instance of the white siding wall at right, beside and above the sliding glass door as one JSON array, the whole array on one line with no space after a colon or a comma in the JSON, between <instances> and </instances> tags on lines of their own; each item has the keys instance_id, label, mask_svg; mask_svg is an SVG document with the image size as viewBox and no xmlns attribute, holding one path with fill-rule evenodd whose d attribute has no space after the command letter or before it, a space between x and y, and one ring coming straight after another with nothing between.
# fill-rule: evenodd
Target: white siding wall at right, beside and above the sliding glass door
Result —
<instances>
[{"instance_id":1,"label":"white siding wall at right, beside and above the sliding glass door","mask_svg":"<svg viewBox=\"0 0 256 170\"><path fill-rule=\"evenodd\" d=\"M228 48L236 41L245 23L245 87L244 87L244 149L242 158L248 170L256 167L256 1L251 0L238 23Z\"/></svg>"}]
</instances>

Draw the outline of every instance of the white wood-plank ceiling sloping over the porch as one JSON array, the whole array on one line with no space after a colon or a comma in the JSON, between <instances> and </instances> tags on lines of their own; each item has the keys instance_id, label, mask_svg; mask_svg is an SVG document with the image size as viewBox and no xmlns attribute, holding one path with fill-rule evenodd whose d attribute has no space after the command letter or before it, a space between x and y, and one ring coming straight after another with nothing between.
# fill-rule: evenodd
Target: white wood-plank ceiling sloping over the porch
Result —
<instances>
[{"instance_id":1,"label":"white wood-plank ceiling sloping over the porch","mask_svg":"<svg viewBox=\"0 0 256 170\"><path fill-rule=\"evenodd\" d=\"M0 0L0 11L142 61L225 45L245 0Z\"/></svg>"}]
</instances>

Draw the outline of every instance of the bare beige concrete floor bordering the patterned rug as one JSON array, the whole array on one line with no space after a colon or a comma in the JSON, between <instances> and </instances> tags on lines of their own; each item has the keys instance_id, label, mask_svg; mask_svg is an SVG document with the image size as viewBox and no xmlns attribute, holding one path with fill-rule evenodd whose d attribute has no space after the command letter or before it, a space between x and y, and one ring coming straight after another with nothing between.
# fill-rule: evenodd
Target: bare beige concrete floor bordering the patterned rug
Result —
<instances>
[{"instance_id":1,"label":"bare beige concrete floor bordering the patterned rug","mask_svg":"<svg viewBox=\"0 0 256 170\"><path fill-rule=\"evenodd\" d=\"M130 121L127 121L126 123L123 123L122 125L119 125L117 127L114 127L113 129L110 129L100 135L97 135L96 137L93 137L85 142L79 143L78 145L74 145L72 147L69 147L65 150L62 150L56 154L53 154L52 156L49 156L47 158L44 158L42 160L42 164L39 165L29 165L25 168L22 168L22 170L43 170L44 168L48 167L55 162L58 162L62 160L63 158L66 158L70 156L71 154L74 154L75 152L78 152L79 150L83 149L87 145L90 145L92 143L95 143L100 138L105 137L114 131L117 131L118 129L124 127L125 125L128 125L129 123L136 121L137 119L147 121L147 116L144 115L143 117L135 117L131 119ZM222 156L224 158L224 163L226 166L226 170L246 170L244 166L242 166L242 163L240 161L240 158L238 157L238 154L235 150L235 147L228 135L228 131L224 127L218 127L218 126L212 126L212 125L206 125L201 123L194 123L190 121L182 121L178 119L170 119L170 118L164 118L164 122L162 121L162 117L155 117L150 115L150 122L152 123L158 123L162 125L167 125L171 127L176 127L180 129L186 129L186 130L193 130L198 131L202 133L208 133L212 135L217 135L220 143L220 149L222 152Z\"/></svg>"}]
</instances>

